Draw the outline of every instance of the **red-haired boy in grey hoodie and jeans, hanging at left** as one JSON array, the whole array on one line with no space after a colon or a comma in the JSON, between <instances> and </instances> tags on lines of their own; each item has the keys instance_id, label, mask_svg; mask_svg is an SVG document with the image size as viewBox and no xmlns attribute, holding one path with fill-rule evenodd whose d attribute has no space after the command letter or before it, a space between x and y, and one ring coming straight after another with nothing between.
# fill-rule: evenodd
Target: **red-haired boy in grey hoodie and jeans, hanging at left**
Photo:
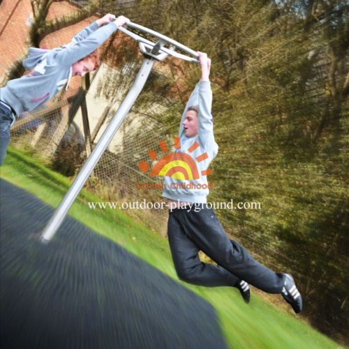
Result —
<instances>
[{"instance_id":1,"label":"red-haired boy in grey hoodie and jeans, hanging at left","mask_svg":"<svg viewBox=\"0 0 349 349\"><path fill-rule=\"evenodd\" d=\"M98 46L127 22L124 16L115 20L114 15L107 14L82 29L68 45L53 50L29 48L23 66L26 70L34 69L0 89L0 165L6 157L15 115L30 112L50 101L65 84L68 89L72 76L84 76L95 70L99 64Z\"/></svg>"}]
</instances>

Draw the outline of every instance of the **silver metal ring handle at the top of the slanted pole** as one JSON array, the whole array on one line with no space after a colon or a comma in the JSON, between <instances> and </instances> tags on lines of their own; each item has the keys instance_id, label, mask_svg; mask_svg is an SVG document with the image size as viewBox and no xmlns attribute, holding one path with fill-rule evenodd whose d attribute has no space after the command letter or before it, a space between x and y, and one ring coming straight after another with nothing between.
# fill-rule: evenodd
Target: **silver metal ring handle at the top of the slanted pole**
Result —
<instances>
[{"instance_id":1,"label":"silver metal ring handle at the top of the slanted pole","mask_svg":"<svg viewBox=\"0 0 349 349\"><path fill-rule=\"evenodd\" d=\"M167 36L164 36L162 34L159 34L158 32L148 29L146 27L142 27L139 24L135 24L133 22L128 22L127 27L133 28L133 29L138 29L140 31L143 31L144 33L150 34L152 36L155 36L156 38L159 38L166 43L173 45L174 47L179 48L179 50L182 50L186 52L187 54L190 54L191 57L185 56L184 54L180 54L179 52L175 52L174 50L170 50L166 47L161 47L162 52L165 52L169 56L177 57L179 59L184 59L186 61L193 61L193 62L198 62L198 53L191 50L190 48L186 47L185 45L182 45L181 43L178 43L176 40L172 40L171 38L168 38ZM138 34L133 33L132 31L127 30L125 27L118 27L119 30L124 32L126 35L131 36L131 38L135 39L138 42L141 43L146 43L148 45L151 45L154 47L155 43L152 43L150 40L147 40L146 38L142 38L142 36L139 36Z\"/></svg>"}]
</instances>

